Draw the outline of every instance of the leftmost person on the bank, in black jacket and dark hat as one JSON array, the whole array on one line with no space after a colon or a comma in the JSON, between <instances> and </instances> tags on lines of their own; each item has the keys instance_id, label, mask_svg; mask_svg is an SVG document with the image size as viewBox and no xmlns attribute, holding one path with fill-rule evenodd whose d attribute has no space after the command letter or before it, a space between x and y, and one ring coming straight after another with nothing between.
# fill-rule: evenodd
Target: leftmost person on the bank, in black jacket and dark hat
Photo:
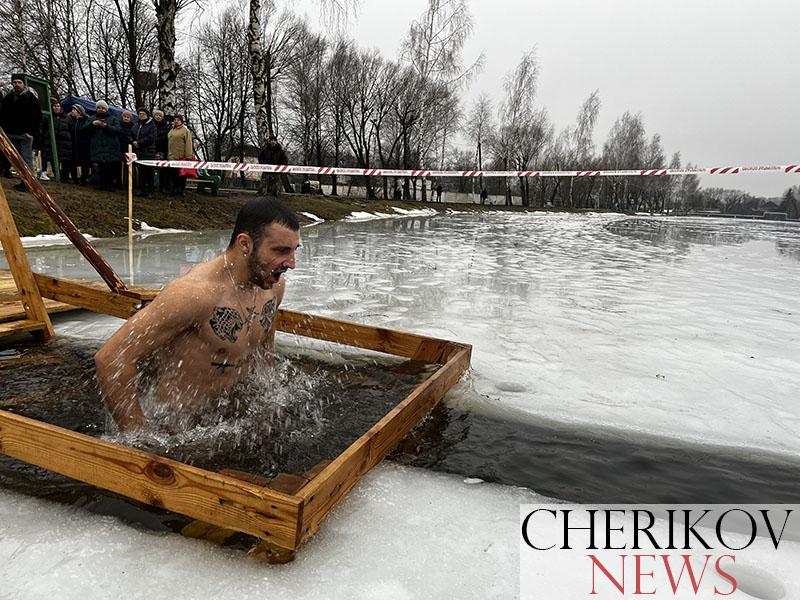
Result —
<instances>
[{"instance_id":1,"label":"leftmost person on the bank, in black jacket and dark hat","mask_svg":"<svg viewBox=\"0 0 800 600\"><path fill-rule=\"evenodd\" d=\"M11 86L13 90L0 103L0 128L33 172L33 138L42 122L42 106L36 94L25 87L22 73L11 75ZM24 192L28 188L20 181L14 189Z\"/></svg>"}]
</instances>

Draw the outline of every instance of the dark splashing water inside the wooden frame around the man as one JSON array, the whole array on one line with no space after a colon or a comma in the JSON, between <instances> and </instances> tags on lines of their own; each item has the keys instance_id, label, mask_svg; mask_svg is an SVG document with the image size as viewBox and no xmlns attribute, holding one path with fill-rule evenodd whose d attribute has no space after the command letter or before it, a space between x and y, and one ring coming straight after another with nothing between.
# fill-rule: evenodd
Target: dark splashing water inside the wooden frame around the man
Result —
<instances>
[{"instance_id":1,"label":"dark splashing water inside the wooden frame around the man","mask_svg":"<svg viewBox=\"0 0 800 600\"><path fill-rule=\"evenodd\" d=\"M274 367L251 373L200 410L143 401L152 425L121 434L93 376L96 350L69 340L18 348L0 361L7 382L0 409L204 469L264 476L303 473L335 458L432 370L408 372L395 359L279 349Z\"/></svg>"}]
</instances>

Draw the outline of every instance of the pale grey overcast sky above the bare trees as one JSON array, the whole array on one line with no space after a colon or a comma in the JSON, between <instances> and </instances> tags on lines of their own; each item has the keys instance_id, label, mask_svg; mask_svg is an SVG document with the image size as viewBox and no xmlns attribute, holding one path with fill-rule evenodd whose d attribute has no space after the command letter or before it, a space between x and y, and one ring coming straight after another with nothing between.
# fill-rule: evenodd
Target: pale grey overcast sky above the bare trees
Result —
<instances>
[{"instance_id":1,"label":"pale grey overcast sky above the bare trees","mask_svg":"<svg viewBox=\"0 0 800 600\"><path fill-rule=\"evenodd\" d=\"M472 0L465 62L485 66L465 96L499 101L503 79L537 48L539 103L557 129L600 90L595 138L641 112L648 136L669 155L703 167L800 162L800 1L798 0ZM293 0L319 26L319 0ZM395 58L426 0L362 0L347 33ZM800 175L707 176L706 186L779 196Z\"/></svg>"}]
</instances>

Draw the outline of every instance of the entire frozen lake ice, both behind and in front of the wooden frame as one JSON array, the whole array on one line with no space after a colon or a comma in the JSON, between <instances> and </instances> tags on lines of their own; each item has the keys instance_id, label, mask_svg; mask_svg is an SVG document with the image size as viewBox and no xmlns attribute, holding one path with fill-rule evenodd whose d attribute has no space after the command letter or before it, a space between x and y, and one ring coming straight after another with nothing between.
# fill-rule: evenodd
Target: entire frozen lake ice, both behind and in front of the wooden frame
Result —
<instances>
[{"instance_id":1,"label":"entire frozen lake ice, both behind and in front of the wooden frame","mask_svg":"<svg viewBox=\"0 0 800 600\"><path fill-rule=\"evenodd\" d=\"M704 446L711 456L725 447L790 465L800 457L797 224L496 213L323 224L301 235L284 306L473 344L470 376L446 399L454 410L613 438L619 452L657 439ZM227 238L137 240L135 282L164 283L215 256ZM129 277L126 240L95 243ZM30 258L40 272L93 277L70 247L31 248ZM118 323L66 316L57 331L99 342ZM197 562L211 569L181 588L186 597L217 590L213 575L221 583L228 572L239 587L225 585L219 595L231 598L477 597L476 589L480 597L513 596L518 505L534 493L465 485L477 473L453 463L443 470L458 475L380 466L283 570L0 491L0 581L19 591L12 597L37 597L35 585L77 597L91 569L100 589L127 577L126 595L144 597L171 577L158 566L163 558L180 553L170 559L176 572L194 577ZM766 479L759 485L769 498ZM570 497L554 489L546 491ZM457 516L453 505L462 507ZM360 524L365 518L369 528ZM45 560L48 549L70 555ZM420 575L425 555L445 556L442 572L466 573L458 581ZM98 557L108 565L100 573L92 567ZM149 594L131 573L142 566L156 569ZM317 587L303 588L309 580ZM487 581L496 586L487 590Z\"/></svg>"}]
</instances>

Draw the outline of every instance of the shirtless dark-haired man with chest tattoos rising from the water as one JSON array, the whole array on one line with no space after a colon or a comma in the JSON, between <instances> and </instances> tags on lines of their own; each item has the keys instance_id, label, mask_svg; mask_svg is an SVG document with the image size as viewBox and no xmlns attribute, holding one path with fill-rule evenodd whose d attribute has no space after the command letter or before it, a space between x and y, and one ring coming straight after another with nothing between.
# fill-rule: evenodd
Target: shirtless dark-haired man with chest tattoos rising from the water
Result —
<instances>
[{"instance_id":1,"label":"shirtless dark-haired man with chest tattoos rising from the water","mask_svg":"<svg viewBox=\"0 0 800 600\"><path fill-rule=\"evenodd\" d=\"M95 356L97 379L120 431L145 426L140 362L156 360L154 400L176 410L200 406L271 363L275 315L294 269L300 225L276 198L245 204L228 248L170 282L128 319Z\"/></svg>"}]
</instances>

